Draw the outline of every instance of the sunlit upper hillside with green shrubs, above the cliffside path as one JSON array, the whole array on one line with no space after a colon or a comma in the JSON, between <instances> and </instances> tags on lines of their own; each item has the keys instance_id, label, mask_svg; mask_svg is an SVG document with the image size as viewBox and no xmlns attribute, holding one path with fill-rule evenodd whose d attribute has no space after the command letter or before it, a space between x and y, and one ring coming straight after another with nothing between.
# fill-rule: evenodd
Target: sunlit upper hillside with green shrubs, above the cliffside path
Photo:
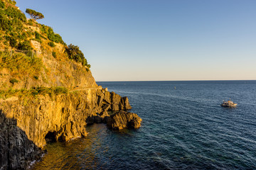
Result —
<instances>
[{"instance_id":1,"label":"sunlit upper hillside with green shrubs, above the cliffside path","mask_svg":"<svg viewBox=\"0 0 256 170\"><path fill-rule=\"evenodd\" d=\"M1 94L35 94L30 91L39 87L49 91L58 86L96 87L90 64L79 47L66 45L53 28L37 23L36 19L44 17L42 13L27 9L33 18L27 19L15 5L15 1L0 0ZM11 92L14 90L18 91Z\"/></svg>"}]
</instances>

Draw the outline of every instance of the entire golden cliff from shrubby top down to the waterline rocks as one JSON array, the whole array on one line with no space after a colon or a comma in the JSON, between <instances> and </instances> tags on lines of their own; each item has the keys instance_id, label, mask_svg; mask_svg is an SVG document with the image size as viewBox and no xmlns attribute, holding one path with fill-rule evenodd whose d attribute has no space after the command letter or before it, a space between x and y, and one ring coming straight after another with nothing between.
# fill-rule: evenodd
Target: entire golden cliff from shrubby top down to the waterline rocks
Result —
<instances>
[{"instance_id":1,"label":"entire golden cliff from shrubby top down to the waterline rocks","mask_svg":"<svg viewBox=\"0 0 256 170\"><path fill-rule=\"evenodd\" d=\"M95 82L78 46L0 0L0 169L27 169L47 142L85 137L86 125L139 128L132 107Z\"/></svg>"}]
</instances>

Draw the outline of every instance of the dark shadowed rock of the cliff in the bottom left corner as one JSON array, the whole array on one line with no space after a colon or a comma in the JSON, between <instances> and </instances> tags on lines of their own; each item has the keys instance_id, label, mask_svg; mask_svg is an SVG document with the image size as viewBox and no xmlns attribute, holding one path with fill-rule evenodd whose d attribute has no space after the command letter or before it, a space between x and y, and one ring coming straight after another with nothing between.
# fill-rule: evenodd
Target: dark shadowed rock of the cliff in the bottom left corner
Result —
<instances>
[{"instance_id":1,"label":"dark shadowed rock of the cliff in the bottom left corner","mask_svg":"<svg viewBox=\"0 0 256 170\"><path fill-rule=\"evenodd\" d=\"M0 169L27 169L29 164L40 160L43 151L18 128L17 120L6 118L0 110Z\"/></svg>"}]
</instances>

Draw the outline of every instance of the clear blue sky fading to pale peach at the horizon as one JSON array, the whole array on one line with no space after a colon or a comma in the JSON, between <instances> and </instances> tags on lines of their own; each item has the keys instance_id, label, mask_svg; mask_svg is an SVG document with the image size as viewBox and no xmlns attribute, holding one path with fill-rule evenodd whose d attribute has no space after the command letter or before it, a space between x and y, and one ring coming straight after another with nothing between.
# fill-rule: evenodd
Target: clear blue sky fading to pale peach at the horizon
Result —
<instances>
[{"instance_id":1,"label":"clear blue sky fading to pale peach at the horizon","mask_svg":"<svg viewBox=\"0 0 256 170\"><path fill-rule=\"evenodd\" d=\"M256 79L255 0L16 0L96 81Z\"/></svg>"}]
</instances>

